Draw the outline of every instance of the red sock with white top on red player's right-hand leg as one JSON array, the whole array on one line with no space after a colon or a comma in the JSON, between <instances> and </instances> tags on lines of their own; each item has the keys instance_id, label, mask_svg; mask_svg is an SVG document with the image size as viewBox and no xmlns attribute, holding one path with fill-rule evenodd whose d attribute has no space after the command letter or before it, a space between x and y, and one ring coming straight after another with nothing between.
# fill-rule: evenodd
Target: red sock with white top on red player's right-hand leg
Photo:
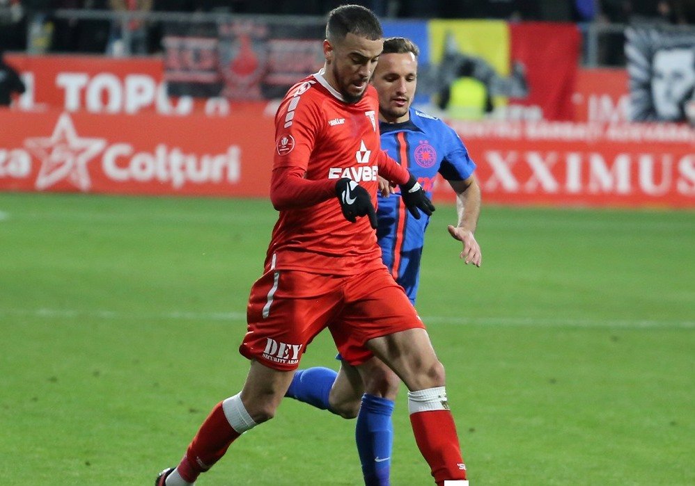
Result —
<instances>
[{"instance_id":1,"label":"red sock with white top on red player's right-hand leg","mask_svg":"<svg viewBox=\"0 0 695 486\"><path fill-rule=\"evenodd\" d=\"M408 411L415 442L437 485L443 486L445 480L465 480L466 466L444 387L408 392Z\"/></svg>"}]
</instances>

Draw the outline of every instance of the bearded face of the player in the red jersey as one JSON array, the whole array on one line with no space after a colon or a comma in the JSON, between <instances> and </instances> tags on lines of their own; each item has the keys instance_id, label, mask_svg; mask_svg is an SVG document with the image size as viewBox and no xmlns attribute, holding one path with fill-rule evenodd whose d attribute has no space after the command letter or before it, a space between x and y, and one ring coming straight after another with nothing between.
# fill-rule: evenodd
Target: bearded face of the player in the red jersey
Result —
<instances>
[{"instance_id":1,"label":"bearded face of the player in the red jersey","mask_svg":"<svg viewBox=\"0 0 695 486\"><path fill-rule=\"evenodd\" d=\"M383 47L382 39L370 40L352 33L336 44L324 42L327 80L348 103L357 103L364 96Z\"/></svg>"}]
</instances>

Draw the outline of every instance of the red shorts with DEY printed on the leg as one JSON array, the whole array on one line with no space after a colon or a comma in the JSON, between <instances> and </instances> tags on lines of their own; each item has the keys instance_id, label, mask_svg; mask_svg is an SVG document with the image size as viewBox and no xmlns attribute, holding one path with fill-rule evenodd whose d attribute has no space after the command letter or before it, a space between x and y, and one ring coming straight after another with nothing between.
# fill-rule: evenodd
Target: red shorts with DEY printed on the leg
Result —
<instances>
[{"instance_id":1,"label":"red shorts with DEY printed on the leg","mask_svg":"<svg viewBox=\"0 0 695 486\"><path fill-rule=\"evenodd\" d=\"M251 288L247 322L239 352L278 370L296 369L326 327L352 365L373 356L369 339L425 327L386 267L350 276L270 270Z\"/></svg>"}]
</instances>

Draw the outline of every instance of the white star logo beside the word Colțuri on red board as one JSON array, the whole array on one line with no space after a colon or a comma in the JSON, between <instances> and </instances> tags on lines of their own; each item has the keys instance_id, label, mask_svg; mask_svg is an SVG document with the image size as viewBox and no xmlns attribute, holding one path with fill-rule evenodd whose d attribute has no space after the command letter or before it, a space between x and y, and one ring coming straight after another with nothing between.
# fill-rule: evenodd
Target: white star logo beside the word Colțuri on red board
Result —
<instances>
[{"instance_id":1,"label":"white star logo beside the word Col\u021buri on red board","mask_svg":"<svg viewBox=\"0 0 695 486\"><path fill-rule=\"evenodd\" d=\"M80 138L70 115L63 113L50 137L32 137L24 140L24 147L41 159L36 178L38 190L68 179L81 191L91 186L87 163L106 146L104 138Z\"/></svg>"}]
</instances>

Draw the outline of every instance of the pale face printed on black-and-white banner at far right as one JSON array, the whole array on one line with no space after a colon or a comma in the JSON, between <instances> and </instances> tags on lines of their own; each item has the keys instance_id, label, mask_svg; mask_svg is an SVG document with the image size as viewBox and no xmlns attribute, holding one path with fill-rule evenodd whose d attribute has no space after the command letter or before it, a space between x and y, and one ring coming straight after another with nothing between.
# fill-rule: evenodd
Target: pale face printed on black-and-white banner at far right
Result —
<instances>
[{"instance_id":1,"label":"pale face printed on black-and-white banner at far right","mask_svg":"<svg viewBox=\"0 0 695 486\"><path fill-rule=\"evenodd\" d=\"M661 120L678 120L695 84L694 49L664 49L652 61L652 99Z\"/></svg>"}]
</instances>

